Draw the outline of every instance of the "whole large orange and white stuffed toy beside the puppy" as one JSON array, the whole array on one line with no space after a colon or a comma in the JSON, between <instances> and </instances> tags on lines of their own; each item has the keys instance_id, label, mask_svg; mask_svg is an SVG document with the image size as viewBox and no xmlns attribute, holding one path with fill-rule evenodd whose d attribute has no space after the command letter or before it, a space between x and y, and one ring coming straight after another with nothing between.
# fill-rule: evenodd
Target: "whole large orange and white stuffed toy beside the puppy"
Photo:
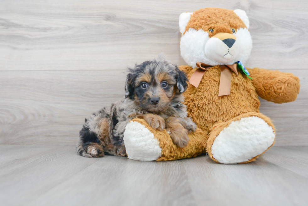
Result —
<instances>
[{"instance_id":1,"label":"whole large orange and white stuffed toy beside the puppy","mask_svg":"<svg viewBox=\"0 0 308 206\"><path fill-rule=\"evenodd\" d=\"M245 11L204 8L179 17L180 66L190 80L184 92L188 116L198 129L185 148L175 146L167 131L134 119L124 132L128 158L173 160L207 152L223 164L247 163L275 142L275 127L259 113L258 96L274 103L296 99L298 77L291 73L246 69L252 39Z\"/></svg>"}]
</instances>

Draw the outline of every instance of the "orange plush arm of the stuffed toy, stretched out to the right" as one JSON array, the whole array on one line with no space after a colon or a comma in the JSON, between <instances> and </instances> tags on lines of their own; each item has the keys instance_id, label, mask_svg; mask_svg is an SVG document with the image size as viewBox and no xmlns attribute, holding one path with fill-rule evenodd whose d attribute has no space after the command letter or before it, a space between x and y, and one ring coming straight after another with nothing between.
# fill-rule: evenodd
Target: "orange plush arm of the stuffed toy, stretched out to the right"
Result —
<instances>
[{"instance_id":1,"label":"orange plush arm of the stuffed toy, stretched out to the right","mask_svg":"<svg viewBox=\"0 0 308 206\"><path fill-rule=\"evenodd\" d=\"M300 92L300 80L291 73L265 70L260 68L247 69L257 94L274 103L292 102Z\"/></svg>"}]
</instances>

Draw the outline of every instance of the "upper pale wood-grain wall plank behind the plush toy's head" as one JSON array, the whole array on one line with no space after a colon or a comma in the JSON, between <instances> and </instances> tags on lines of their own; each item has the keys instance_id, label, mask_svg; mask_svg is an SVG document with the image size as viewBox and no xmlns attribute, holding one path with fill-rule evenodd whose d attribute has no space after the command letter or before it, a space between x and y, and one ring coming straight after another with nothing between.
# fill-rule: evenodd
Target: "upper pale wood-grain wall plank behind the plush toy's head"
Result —
<instances>
[{"instance_id":1,"label":"upper pale wood-grain wall plank behind the plush toy's head","mask_svg":"<svg viewBox=\"0 0 308 206\"><path fill-rule=\"evenodd\" d=\"M246 66L307 69L302 0L2 0L0 70L124 70L161 52L185 64L179 14L204 7L247 12L254 48Z\"/></svg>"}]
</instances>

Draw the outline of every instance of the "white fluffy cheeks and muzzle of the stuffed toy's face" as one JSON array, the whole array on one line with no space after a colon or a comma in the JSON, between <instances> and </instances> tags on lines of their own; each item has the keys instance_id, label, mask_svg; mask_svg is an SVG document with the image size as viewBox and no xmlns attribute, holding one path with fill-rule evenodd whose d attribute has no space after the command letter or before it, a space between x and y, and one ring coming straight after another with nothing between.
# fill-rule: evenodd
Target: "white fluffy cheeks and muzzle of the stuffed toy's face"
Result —
<instances>
[{"instance_id":1,"label":"white fluffy cheeks and muzzle of the stuffed toy's face","mask_svg":"<svg viewBox=\"0 0 308 206\"><path fill-rule=\"evenodd\" d=\"M190 28L181 37L181 56L192 67L196 67L196 62L203 62L212 66L234 64L237 61L245 64L252 49L250 32L246 28L240 28L234 36L236 36L236 41L229 48L219 39L209 38L208 32ZM233 56L223 57L228 52Z\"/></svg>"}]
</instances>

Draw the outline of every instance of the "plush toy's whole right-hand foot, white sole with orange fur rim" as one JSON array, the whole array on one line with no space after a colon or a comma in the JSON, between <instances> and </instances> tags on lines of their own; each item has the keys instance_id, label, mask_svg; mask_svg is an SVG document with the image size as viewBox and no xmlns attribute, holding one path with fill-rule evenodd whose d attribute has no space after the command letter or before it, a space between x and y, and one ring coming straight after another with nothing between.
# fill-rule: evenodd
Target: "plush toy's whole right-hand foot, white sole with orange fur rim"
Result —
<instances>
[{"instance_id":1,"label":"plush toy's whole right-hand foot, white sole with orange fur rim","mask_svg":"<svg viewBox=\"0 0 308 206\"><path fill-rule=\"evenodd\" d=\"M249 112L213 126L207 152L223 164L247 163L256 160L275 142L271 120L261 113Z\"/></svg>"}]
</instances>

